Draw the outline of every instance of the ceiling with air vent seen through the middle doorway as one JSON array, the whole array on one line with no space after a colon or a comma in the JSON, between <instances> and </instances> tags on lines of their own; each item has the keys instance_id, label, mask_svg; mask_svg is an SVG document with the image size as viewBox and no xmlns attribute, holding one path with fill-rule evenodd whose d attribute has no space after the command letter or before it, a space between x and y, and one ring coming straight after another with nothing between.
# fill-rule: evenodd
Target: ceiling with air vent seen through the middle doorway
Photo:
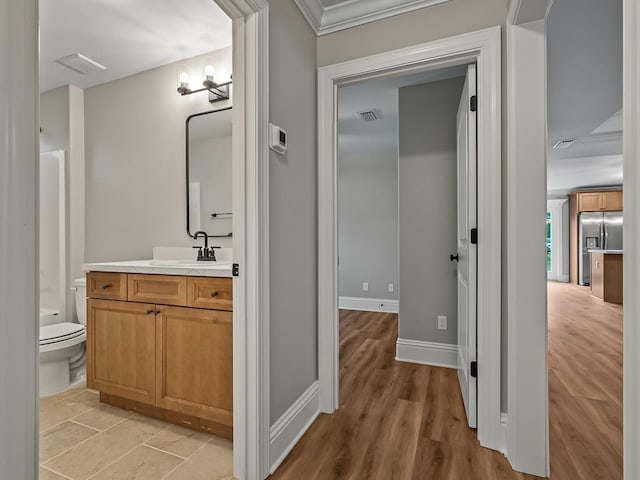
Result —
<instances>
[{"instance_id":1,"label":"ceiling with air vent seen through the middle doorway","mask_svg":"<svg viewBox=\"0 0 640 480\"><path fill-rule=\"evenodd\" d=\"M365 80L338 89L338 152L398 151L398 89L461 77L466 65L395 77ZM383 118L365 122L358 112L377 109Z\"/></svg>"}]
</instances>

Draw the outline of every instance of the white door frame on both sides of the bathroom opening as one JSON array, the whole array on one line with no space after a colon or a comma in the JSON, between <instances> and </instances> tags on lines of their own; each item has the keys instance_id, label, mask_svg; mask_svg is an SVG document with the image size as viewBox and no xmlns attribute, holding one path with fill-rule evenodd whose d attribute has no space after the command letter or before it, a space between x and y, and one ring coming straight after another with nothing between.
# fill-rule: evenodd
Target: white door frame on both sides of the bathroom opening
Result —
<instances>
[{"instance_id":1,"label":"white door frame on both sides of the bathroom opening","mask_svg":"<svg viewBox=\"0 0 640 480\"><path fill-rule=\"evenodd\" d=\"M214 0L233 21L234 474L268 475L269 458L269 10L266 0ZM0 463L11 478L38 475L38 2L0 0ZM28 159L28 161L25 161ZM32 318L32 322L16 322ZM16 437L18 435L18 437ZM17 448L19 447L19 448ZM23 448L24 447L24 448Z\"/></svg>"}]
</instances>

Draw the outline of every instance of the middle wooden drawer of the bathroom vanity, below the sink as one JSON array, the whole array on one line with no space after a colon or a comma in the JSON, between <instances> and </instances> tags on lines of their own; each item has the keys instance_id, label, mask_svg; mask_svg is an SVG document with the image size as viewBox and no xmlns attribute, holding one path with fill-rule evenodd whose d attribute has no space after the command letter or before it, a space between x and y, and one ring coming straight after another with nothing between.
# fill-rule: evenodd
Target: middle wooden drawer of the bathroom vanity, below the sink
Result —
<instances>
[{"instance_id":1,"label":"middle wooden drawer of the bathroom vanity, below the sink","mask_svg":"<svg viewBox=\"0 0 640 480\"><path fill-rule=\"evenodd\" d=\"M128 283L128 300L130 302L177 306L187 304L186 277L129 274Z\"/></svg>"}]
</instances>

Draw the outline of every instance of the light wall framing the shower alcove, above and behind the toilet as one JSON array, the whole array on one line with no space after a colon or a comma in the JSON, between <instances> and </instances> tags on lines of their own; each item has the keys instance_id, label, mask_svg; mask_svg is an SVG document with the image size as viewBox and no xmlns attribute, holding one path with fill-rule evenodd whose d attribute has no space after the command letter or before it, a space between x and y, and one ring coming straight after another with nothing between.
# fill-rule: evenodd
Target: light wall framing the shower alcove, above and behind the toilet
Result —
<instances>
[{"instance_id":1,"label":"light wall framing the shower alcove, above and behind the toilet","mask_svg":"<svg viewBox=\"0 0 640 480\"><path fill-rule=\"evenodd\" d=\"M75 315L73 279L84 276L84 90L72 85L40 95L40 151L64 150L66 171L67 317Z\"/></svg>"}]
</instances>

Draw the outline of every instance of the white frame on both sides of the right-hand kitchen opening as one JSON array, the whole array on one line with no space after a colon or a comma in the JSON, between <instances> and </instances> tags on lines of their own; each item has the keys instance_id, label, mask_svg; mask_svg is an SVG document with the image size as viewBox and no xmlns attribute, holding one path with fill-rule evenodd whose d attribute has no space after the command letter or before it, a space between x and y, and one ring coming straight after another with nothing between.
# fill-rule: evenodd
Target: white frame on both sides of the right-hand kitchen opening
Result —
<instances>
[{"instance_id":1,"label":"white frame on both sides of the right-hand kitchen opening","mask_svg":"<svg viewBox=\"0 0 640 480\"><path fill-rule=\"evenodd\" d=\"M623 105L624 105L624 478L640 478L640 7L637 0L623 0ZM508 456L518 470L548 476L548 383L546 380L547 312L546 280L520 282L526 271L518 242L527 239L512 222L517 218L540 218L531 222L543 236L543 217L537 202L546 199L546 17L553 0L511 0L507 15L508 76ZM523 59L526 74L521 73ZM520 63L519 63L520 62ZM540 161L543 159L542 161ZM520 167L526 167L520 168ZM544 184L540 179L544 178ZM525 187L522 190L521 187ZM532 192L531 195L528 192ZM536 200L532 206L531 198ZM522 199L522 201L519 201ZM526 201L525 201L526 200ZM529 238L530 240L530 238ZM520 275L522 275L520 273ZM540 288L542 285L542 289ZM530 375L533 373L534 375ZM544 376L542 376L542 373ZM522 377L522 381L518 381ZM535 378L535 382L531 379ZM540 380L544 379L541 384ZM526 381L525 381L526 380ZM540 426L544 426L544 431Z\"/></svg>"}]
</instances>

